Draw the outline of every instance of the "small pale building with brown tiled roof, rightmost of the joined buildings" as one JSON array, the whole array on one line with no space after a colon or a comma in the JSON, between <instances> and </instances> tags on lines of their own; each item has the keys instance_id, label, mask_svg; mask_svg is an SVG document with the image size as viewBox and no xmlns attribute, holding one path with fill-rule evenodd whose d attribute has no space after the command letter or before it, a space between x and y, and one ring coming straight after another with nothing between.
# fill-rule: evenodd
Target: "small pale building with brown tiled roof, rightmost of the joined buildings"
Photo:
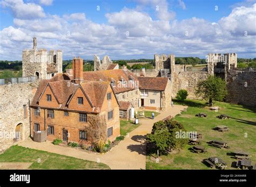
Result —
<instances>
[{"instance_id":1,"label":"small pale building with brown tiled roof, rightmost of the joined buildings","mask_svg":"<svg viewBox=\"0 0 256 187\"><path fill-rule=\"evenodd\" d=\"M140 105L145 109L165 111L172 101L172 85L166 77L138 77Z\"/></svg>"}]
</instances>

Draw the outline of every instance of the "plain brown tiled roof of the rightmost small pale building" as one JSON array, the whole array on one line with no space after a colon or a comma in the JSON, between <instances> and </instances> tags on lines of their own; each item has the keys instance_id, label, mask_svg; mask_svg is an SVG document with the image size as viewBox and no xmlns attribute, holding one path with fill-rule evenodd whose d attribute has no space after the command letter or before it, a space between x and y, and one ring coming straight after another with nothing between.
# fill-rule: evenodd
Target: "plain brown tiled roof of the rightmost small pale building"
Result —
<instances>
[{"instance_id":1,"label":"plain brown tiled roof of the rightmost small pale building","mask_svg":"<svg viewBox=\"0 0 256 187\"><path fill-rule=\"evenodd\" d=\"M140 89L164 91L169 81L169 78L138 77L138 80Z\"/></svg>"}]
</instances>

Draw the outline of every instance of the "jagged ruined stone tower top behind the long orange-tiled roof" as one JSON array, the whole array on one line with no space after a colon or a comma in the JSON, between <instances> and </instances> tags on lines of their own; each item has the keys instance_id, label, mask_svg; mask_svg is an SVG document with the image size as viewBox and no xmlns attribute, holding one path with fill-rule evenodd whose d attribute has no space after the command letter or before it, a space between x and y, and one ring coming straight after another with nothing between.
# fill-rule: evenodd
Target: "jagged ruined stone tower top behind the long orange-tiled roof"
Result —
<instances>
[{"instance_id":1,"label":"jagged ruined stone tower top behind the long orange-tiled roof","mask_svg":"<svg viewBox=\"0 0 256 187\"><path fill-rule=\"evenodd\" d=\"M94 70L111 70L111 69L119 69L118 63L113 63L110 60L109 56L104 56L103 60L99 60L99 56L94 55Z\"/></svg>"}]
</instances>

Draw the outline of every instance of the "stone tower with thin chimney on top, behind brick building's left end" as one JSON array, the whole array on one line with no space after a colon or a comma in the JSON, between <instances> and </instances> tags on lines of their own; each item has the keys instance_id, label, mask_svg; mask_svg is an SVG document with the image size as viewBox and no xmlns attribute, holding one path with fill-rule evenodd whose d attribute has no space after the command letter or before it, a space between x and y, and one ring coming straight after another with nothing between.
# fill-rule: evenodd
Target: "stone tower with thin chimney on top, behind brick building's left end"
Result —
<instances>
[{"instance_id":1,"label":"stone tower with thin chimney on top, behind brick building's left end","mask_svg":"<svg viewBox=\"0 0 256 187\"><path fill-rule=\"evenodd\" d=\"M37 38L33 38L33 48L22 52L23 77L36 76L40 79L50 79L57 73L62 73L62 51L46 49L37 50Z\"/></svg>"}]
</instances>

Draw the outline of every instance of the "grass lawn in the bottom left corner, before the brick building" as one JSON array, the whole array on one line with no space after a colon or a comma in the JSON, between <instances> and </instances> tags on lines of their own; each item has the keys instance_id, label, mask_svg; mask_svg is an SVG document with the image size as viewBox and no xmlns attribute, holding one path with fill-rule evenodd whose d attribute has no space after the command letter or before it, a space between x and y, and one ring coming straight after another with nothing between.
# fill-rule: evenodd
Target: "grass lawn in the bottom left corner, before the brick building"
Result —
<instances>
[{"instance_id":1,"label":"grass lawn in the bottom left corner, before the brick building","mask_svg":"<svg viewBox=\"0 0 256 187\"><path fill-rule=\"evenodd\" d=\"M37 162L38 159L41 163ZM5 150L3 154L0 154L0 162L32 162L29 169L110 169L103 163L21 146L12 146Z\"/></svg>"}]
</instances>

